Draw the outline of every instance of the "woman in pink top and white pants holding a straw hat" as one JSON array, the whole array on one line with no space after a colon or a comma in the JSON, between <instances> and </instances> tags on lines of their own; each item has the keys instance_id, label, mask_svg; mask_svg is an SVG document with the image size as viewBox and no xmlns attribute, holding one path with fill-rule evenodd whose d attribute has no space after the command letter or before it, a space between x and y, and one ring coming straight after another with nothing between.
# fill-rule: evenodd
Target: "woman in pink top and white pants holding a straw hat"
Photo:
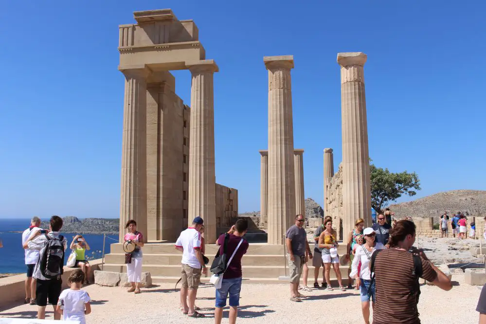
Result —
<instances>
[{"instance_id":1,"label":"woman in pink top and white pants holding a straw hat","mask_svg":"<svg viewBox=\"0 0 486 324\"><path fill-rule=\"evenodd\" d=\"M126 274L131 287L128 292L140 293L140 281L142 280L142 247L144 246L144 235L137 231L137 222L130 219L126 222L125 228L128 233L125 234L125 241L132 241L135 244L135 250L132 252L132 261L126 265Z\"/></svg>"}]
</instances>

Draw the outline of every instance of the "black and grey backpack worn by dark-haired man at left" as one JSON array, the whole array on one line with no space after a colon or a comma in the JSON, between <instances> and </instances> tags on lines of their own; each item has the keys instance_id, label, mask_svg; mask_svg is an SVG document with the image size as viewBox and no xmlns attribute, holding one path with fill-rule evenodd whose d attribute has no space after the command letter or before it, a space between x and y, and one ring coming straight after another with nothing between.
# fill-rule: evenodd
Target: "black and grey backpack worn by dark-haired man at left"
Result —
<instances>
[{"instance_id":1,"label":"black and grey backpack worn by dark-haired man at left","mask_svg":"<svg viewBox=\"0 0 486 324\"><path fill-rule=\"evenodd\" d=\"M47 241L44 253L40 256L40 273L46 279L57 279L64 272L64 237L59 235L58 238L51 238L45 235Z\"/></svg>"}]
</instances>

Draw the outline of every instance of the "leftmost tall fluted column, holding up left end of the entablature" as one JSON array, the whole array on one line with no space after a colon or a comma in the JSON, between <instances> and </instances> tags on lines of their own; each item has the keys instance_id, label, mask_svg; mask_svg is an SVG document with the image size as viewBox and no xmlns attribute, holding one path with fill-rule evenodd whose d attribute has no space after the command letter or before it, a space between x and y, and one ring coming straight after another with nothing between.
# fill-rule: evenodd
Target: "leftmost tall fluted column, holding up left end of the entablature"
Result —
<instances>
[{"instance_id":1,"label":"leftmost tall fluted column, holding up left end of the entablature","mask_svg":"<svg viewBox=\"0 0 486 324\"><path fill-rule=\"evenodd\" d=\"M122 180L120 197L120 242L128 219L147 233L146 164L146 70L122 71L125 75L123 108Z\"/></svg>"}]
</instances>

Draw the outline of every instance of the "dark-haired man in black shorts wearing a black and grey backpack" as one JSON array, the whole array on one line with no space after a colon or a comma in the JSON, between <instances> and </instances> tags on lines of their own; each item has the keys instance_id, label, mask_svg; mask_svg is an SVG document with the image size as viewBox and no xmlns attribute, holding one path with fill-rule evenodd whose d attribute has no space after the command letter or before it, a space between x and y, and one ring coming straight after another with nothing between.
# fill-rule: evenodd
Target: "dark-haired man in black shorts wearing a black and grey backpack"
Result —
<instances>
[{"instance_id":1,"label":"dark-haired man in black shorts wearing a black and grey backpack","mask_svg":"<svg viewBox=\"0 0 486 324\"><path fill-rule=\"evenodd\" d=\"M54 307L54 320L60 320L61 315L55 311L59 295L61 294L64 266L64 251L66 251L66 238L59 234L62 228L62 218L52 216L49 231L37 230L34 232L24 248L40 250L40 256L34 268L33 277L37 279L36 304L37 319L43 320L46 316L47 300Z\"/></svg>"}]
</instances>

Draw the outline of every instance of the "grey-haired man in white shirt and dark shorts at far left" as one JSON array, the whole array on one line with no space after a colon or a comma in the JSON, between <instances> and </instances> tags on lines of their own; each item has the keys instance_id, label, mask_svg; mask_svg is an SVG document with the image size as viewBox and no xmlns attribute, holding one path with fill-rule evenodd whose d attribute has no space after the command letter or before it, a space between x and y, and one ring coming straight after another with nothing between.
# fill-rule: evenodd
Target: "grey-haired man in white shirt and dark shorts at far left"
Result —
<instances>
[{"instance_id":1,"label":"grey-haired man in white shirt and dark shorts at far left","mask_svg":"<svg viewBox=\"0 0 486 324\"><path fill-rule=\"evenodd\" d=\"M30 235L40 230L40 218L32 217L30 227L22 233L22 246L27 242ZM25 300L24 304L36 305L36 279L32 279L34 268L39 259L39 250L25 249L25 266L27 267L27 277L25 278Z\"/></svg>"}]
</instances>

